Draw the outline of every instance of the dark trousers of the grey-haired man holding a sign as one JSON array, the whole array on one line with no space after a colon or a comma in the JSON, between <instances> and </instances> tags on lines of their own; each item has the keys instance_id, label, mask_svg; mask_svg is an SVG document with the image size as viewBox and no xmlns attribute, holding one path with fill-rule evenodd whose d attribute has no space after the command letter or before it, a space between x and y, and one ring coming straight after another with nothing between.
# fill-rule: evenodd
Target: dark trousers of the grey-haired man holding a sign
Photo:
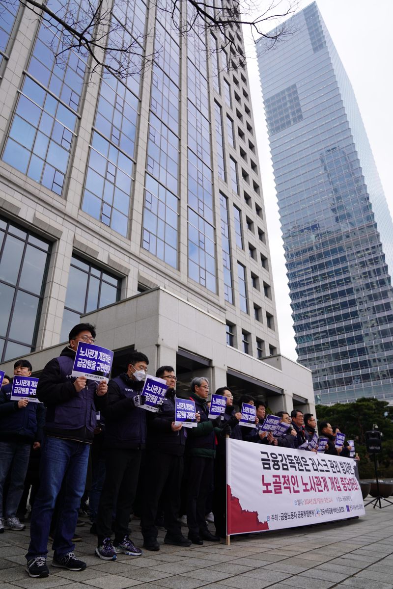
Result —
<instances>
[{"instance_id":1,"label":"dark trousers of the grey-haired man holding a sign","mask_svg":"<svg viewBox=\"0 0 393 589\"><path fill-rule=\"evenodd\" d=\"M206 502L213 490L213 458L190 456L187 486L187 525L191 534L206 530Z\"/></svg>"}]
</instances>

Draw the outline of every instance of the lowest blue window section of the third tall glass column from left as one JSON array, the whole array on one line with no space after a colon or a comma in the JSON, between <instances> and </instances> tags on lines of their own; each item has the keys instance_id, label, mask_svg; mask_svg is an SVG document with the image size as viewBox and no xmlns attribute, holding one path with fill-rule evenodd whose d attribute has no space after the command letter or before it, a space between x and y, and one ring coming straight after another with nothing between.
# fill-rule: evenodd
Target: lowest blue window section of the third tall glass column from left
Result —
<instances>
[{"instance_id":1,"label":"lowest blue window section of the third tall glass column from left","mask_svg":"<svg viewBox=\"0 0 393 589\"><path fill-rule=\"evenodd\" d=\"M142 247L177 268L179 199L146 174Z\"/></svg>"}]
</instances>

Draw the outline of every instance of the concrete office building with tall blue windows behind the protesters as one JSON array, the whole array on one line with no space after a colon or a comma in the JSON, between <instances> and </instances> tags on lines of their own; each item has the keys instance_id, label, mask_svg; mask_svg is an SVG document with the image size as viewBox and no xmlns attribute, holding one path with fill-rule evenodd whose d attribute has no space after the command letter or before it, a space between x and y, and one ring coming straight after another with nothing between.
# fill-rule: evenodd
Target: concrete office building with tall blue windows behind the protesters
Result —
<instances>
[{"instance_id":1,"label":"concrete office building with tall blue windows behind the protesters","mask_svg":"<svg viewBox=\"0 0 393 589\"><path fill-rule=\"evenodd\" d=\"M90 80L72 51L55 62L47 25L6 15L2 368L31 353L39 372L82 317L115 350L113 373L137 349L151 372L176 366L184 393L207 375L275 411L312 409L311 373L279 353L246 67L213 34L181 36L156 2L122 6L154 56L126 80Z\"/></svg>"}]
</instances>

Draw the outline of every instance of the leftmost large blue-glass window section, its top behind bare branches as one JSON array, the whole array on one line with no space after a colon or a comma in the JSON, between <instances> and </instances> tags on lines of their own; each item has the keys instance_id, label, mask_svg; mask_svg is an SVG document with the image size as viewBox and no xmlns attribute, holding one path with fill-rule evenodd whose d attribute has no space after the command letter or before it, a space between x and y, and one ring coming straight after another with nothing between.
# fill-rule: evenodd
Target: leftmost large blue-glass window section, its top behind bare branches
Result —
<instances>
[{"instance_id":1,"label":"leftmost large blue-glass window section, its top behind bare branches","mask_svg":"<svg viewBox=\"0 0 393 589\"><path fill-rule=\"evenodd\" d=\"M48 42L48 24L39 27L3 160L61 195L76 137L86 63L72 50L63 55L64 64L58 63L64 34L60 25L58 30L58 35L49 32Z\"/></svg>"}]
</instances>

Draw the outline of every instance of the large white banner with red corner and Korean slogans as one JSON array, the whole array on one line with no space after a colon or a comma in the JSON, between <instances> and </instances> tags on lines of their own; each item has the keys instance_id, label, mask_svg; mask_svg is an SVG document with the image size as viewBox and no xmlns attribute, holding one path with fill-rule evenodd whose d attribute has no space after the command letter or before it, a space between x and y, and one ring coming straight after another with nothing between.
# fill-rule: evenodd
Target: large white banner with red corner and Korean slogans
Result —
<instances>
[{"instance_id":1,"label":"large white banner with red corner and Korean slogans","mask_svg":"<svg viewBox=\"0 0 393 589\"><path fill-rule=\"evenodd\" d=\"M351 458L226 440L227 535L364 515Z\"/></svg>"}]
</instances>

